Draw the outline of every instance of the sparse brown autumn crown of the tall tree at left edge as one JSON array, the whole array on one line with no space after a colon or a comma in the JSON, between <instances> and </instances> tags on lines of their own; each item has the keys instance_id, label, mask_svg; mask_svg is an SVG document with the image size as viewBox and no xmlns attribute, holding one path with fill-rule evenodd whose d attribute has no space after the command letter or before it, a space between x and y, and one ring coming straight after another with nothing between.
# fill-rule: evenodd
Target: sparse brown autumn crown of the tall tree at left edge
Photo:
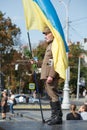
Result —
<instances>
[{"instance_id":1,"label":"sparse brown autumn crown of the tall tree at left edge","mask_svg":"<svg viewBox=\"0 0 87 130\"><path fill-rule=\"evenodd\" d=\"M11 19L5 18L5 14L0 11L0 44L4 52L10 51L14 45L14 40L21 33L20 29L11 22Z\"/></svg>"}]
</instances>

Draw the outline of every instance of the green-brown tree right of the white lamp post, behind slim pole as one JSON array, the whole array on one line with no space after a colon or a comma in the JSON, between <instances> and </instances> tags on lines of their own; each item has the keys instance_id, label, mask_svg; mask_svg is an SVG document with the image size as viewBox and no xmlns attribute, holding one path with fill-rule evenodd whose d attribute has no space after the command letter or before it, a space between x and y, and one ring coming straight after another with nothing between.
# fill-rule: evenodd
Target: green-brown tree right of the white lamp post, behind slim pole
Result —
<instances>
[{"instance_id":1,"label":"green-brown tree right of the white lamp post, behind slim pole","mask_svg":"<svg viewBox=\"0 0 87 130\"><path fill-rule=\"evenodd\" d=\"M77 77L78 77L78 59L82 54L86 54L86 51L80 44L72 44L69 46L69 66L70 66L70 88L77 91ZM87 79L87 68L84 66L84 59L81 59L80 76ZM85 69L84 69L85 68Z\"/></svg>"}]
</instances>

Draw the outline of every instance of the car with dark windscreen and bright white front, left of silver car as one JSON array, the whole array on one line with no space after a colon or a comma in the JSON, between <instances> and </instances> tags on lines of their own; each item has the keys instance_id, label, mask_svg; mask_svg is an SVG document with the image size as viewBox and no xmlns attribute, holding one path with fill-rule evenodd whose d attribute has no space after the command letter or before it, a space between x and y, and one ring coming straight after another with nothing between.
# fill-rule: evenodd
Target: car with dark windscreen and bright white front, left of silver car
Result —
<instances>
[{"instance_id":1,"label":"car with dark windscreen and bright white front, left of silver car","mask_svg":"<svg viewBox=\"0 0 87 130\"><path fill-rule=\"evenodd\" d=\"M27 96L24 94L17 94L15 95L16 103L27 103Z\"/></svg>"}]
</instances>

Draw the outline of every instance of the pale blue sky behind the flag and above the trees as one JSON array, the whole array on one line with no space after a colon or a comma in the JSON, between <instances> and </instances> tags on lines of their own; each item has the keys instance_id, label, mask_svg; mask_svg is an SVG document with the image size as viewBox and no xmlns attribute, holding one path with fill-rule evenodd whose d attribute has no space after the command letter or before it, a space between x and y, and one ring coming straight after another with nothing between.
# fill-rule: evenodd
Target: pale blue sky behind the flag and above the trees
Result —
<instances>
[{"instance_id":1,"label":"pale blue sky behind the flag and above the trees","mask_svg":"<svg viewBox=\"0 0 87 130\"><path fill-rule=\"evenodd\" d=\"M68 7L69 40L72 42L82 42L84 38L87 38L87 0L59 1L51 0L61 21L65 36L66 7ZM5 17L10 17L12 22L21 29L21 41L24 45L28 44L22 0L0 0L0 11L6 13ZM36 47L40 40L44 40L43 34L38 30L29 31L29 35L32 48Z\"/></svg>"}]
</instances>

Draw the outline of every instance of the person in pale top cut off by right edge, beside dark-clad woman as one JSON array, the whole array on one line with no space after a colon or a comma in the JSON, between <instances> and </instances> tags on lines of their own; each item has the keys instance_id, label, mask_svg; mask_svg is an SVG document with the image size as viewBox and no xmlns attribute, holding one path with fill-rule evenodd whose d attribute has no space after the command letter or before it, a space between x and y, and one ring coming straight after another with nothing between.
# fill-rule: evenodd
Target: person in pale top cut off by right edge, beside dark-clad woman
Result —
<instances>
[{"instance_id":1,"label":"person in pale top cut off by right edge, beside dark-clad woman","mask_svg":"<svg viewBox=\"0 0 87 130\"><path fill-rule=\"evenodd\" d=\"M87 104L84 104L79 108L79 113L82 117L82 120L87 120Z\"/></svg>"}]
</instances>

